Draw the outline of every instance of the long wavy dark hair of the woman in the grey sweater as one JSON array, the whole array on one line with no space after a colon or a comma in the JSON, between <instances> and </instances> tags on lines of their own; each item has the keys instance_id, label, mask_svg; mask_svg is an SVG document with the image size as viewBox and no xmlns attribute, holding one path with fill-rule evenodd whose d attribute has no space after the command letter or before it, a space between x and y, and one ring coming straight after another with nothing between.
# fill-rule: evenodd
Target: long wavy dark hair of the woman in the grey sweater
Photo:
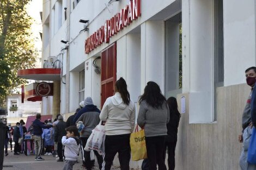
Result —
<instances>
[{"instance_id":1,"label":"long wavy dark hair of the woman in the grey sweater","mask_svg":"<svg viewBox=\"0 0 256 170\"><path fill-rule=\"evenodd\" d=\"M166 98L162 95L159 85L154 81L149 81L147 86L145 86L144 93L139 98L139 104L141 104L142 100L146 100L150 106L156 109L162 108L163 102L166 102Z\"/></svg>"}]
</instances>

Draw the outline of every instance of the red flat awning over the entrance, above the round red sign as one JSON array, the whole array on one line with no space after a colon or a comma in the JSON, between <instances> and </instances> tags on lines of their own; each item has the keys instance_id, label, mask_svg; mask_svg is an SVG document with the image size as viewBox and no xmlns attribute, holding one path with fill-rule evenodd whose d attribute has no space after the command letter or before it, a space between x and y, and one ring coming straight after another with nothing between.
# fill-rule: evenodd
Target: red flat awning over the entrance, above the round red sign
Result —
<instances>
[{"instance_id":1,"label":"red flat awning over the entrance, above the round red sign","mask_svg":"<svg viewBox=\"0 0 256 170\"><path fill-rule=\"evenodd\" d=\"M18 77L31 80L60 80L60 68L32 68L18 70Z\"/></svg>"}]
</instances>

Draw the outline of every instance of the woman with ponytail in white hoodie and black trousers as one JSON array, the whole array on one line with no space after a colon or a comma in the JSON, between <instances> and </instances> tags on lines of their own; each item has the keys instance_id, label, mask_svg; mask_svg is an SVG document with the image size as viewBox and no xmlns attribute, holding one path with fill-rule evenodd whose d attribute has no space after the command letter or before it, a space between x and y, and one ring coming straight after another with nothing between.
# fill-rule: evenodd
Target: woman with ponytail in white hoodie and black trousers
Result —
<instances>
[{"instance_id":1,"label":"woman with ponytail in white hoodie and black trousers","mask_svg":"<svg viewBox=\"0 0 256 170\"><path fill-rule=\"evenodd\" d=\"M106 99L100 119L106 121L102 170L111 169L114 156L117 153L120 169L129 170L130 134L135 124L135 104L130 100L130 94L123 78L115 82L115 95Z\"/></svg>"}]
</instances>

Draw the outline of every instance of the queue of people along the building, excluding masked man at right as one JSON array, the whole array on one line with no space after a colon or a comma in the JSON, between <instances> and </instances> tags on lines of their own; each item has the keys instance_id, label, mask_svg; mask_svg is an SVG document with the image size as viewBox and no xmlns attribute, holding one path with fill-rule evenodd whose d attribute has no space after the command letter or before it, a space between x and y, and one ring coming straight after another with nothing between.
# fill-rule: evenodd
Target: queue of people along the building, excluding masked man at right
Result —
<instances>
[{"instance_id":1,"label":"queue of people along the building, excluding masked man at right","mask_svg":"<svg viewBox=\"0 0 256 170\"><path fill-rule=\"evenodd\" d=\"M101 111L94 105L92 98L87 97L80 103L80 108L76 110L76 113L67 119L67 122L64 122L62 115L57 115L53 123L50 120L41 122L41 115L37 114L31 127L28 128L28 132L33 134L35 160L44 161L41 155L52 155L57 149L57 161L65 160L63 169L72 169L81 152L82 166L91 170L94 166L94 160L91 158L92 152L84 150L84 147L92 130L98 124L104 124L103 155L93 150L99 169L111 169L114 156L118 153L121 170L129 170L130 135L135 128L136 119L135 104L130 99L130 93L123 78L115 82L114 90L114 96L106 99ZM149 81L143 95L139 97L139 105L137 123L145 131L148 169L156 169L157 166L159 169L167 169L164 163L166 149L168 149L169 170L174 169L180 119L176 99L174 97L166 99L159 85L154 81ZM13 129L15 155L20 154L22 148L19 138L27 133L27 129L22 128L24 124L22 121L17 122ZM7 137L11 135L10 131L11 129L7 127ZM9 138L8 141L10 141Z\"/></svg>"}]
</instances>

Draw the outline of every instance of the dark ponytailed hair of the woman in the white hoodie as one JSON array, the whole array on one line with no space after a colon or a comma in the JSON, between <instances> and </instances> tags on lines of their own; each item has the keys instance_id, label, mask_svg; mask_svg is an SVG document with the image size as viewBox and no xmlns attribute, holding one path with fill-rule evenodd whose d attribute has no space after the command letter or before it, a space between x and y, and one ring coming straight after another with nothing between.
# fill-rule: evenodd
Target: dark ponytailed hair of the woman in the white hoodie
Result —
<instances>
[{"instance_id":1,"label":"dark ponytailed hair of the woman in the white hoodie","mask_svg":"<svg viewBox=\"0 0 256 170\"><path fill-rule=\"evenodd\" d=\"M126 81L121 77L119 80L115 81L115 91L121 94L121 98L126 105L130 104L130 93L127 90Z\"/></svg>"}]
</instances>

